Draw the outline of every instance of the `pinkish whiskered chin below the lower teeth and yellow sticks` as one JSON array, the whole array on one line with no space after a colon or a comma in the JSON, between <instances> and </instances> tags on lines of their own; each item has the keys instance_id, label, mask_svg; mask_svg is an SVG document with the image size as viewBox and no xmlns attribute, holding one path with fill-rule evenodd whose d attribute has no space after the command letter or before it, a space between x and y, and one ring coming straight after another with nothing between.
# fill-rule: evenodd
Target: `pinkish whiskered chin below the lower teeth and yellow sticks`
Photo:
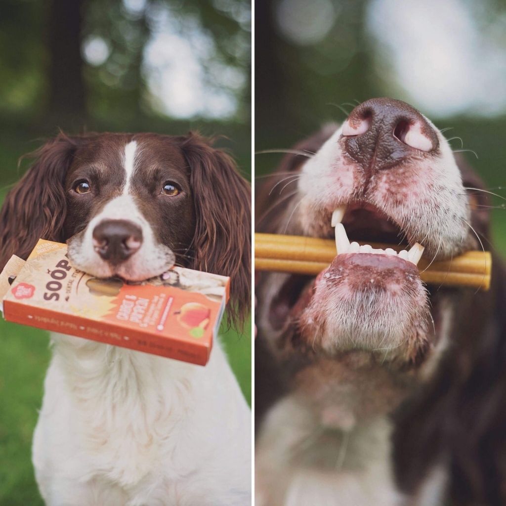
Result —
<instances>
[{"instance_id":1,"label":"pinkish whiskered chin below the lower teeth and yellow sticks","mask_svg":"<svg viewBox=\"0 0 506 506\"><path fill-rule=\"evenodd\" d=\"M428 294L417 267L399 257L343 254L292 309L299 338L316 352L377 352L413 361L429 342Z\"/></svg>"}]
</instances>

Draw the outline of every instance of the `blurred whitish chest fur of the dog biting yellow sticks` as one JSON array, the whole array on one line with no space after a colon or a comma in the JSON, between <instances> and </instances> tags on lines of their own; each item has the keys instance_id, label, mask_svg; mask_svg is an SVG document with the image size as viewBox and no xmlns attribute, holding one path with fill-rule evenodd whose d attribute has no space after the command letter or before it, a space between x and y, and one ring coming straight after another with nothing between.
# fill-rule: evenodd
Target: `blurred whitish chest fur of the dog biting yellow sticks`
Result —
<instances>
[{"instance_id":1,"label":"blurred whitish chest fur of the dog biting yellow sticks","mask_svg":"<svg viewBox=\"0 0 506 506\"><path fill-rule=\"evenodd\" d=\"M384 416L336 431L295 396L267 416L257 442L259 506L395 506L391 424Z\"/></svg>"}]
</instances>

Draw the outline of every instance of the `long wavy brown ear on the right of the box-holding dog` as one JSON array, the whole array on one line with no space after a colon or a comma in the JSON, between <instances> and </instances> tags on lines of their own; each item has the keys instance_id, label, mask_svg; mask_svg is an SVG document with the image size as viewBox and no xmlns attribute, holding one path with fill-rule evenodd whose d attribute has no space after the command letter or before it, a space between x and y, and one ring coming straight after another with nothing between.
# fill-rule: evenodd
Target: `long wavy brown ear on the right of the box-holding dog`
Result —
<instances>
[{"instance_id":1,"label":"long wavy brown ear on the right of the box-holding dog","mask_svg":"<svg viewBox=\"0 0 506 506\"><path fill-rule=\"evenodd\" d=\"M196 227L192 267L230 276L229 323L242 324L251 289L251 191L225 152L195 134L181 147L188 161Z\"/></svg>"}]
</instances>

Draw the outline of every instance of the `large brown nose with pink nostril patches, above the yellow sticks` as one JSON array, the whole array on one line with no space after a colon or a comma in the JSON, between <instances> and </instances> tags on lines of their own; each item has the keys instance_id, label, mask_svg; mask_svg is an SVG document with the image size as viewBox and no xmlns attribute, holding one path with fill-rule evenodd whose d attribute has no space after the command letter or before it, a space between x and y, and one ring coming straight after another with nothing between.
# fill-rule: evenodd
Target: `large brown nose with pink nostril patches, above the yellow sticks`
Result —
<instances>
[{"instance_id":1,"label":"large brown nose with pink nostril patches, above the yellow sticks","mask_svg":"<svg viewBox=\"0 0 506 506\"><path fill-rule=\"evenodd\" d=\"M438 136L416 109L400 100L374 98L355 107L343 124L346 152L364 170L384 170L439 147Z\"/></svg>"}]
</instances>

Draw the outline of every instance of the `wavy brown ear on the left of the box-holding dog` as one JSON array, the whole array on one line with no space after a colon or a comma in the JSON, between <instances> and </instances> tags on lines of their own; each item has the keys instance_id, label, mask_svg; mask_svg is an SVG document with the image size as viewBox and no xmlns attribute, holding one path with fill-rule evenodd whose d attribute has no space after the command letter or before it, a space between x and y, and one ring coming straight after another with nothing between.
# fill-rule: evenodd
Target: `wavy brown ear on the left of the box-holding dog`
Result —
<instances>
[{"instance_id":1,"label":"wavy brown ear on the left of the box-holding dog","mask_svg":"<svg viewBox=\"0 0 506 506\"><path fill-rule=\"evenodd\" d=\"M62 240L63 184L75 148L61 133L28 155L35 162L7 194L0 214L0 270L12 255L26 259L39 238Z\"/></svg>"}]
</instances>

